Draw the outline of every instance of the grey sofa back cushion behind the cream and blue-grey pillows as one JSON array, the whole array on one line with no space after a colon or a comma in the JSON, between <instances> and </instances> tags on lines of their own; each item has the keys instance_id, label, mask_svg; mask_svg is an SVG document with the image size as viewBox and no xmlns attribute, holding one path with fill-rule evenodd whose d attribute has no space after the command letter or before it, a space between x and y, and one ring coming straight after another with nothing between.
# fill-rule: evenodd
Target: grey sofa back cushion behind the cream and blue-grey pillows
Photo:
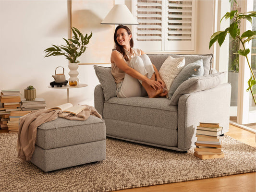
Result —
<instances>
[{"instance_id":1,"label":"grey sofa back cushion behind the cream and blue-grey pillows","mask_svg":"<svg viewBox=\"0 0 256 192\"><path fill-rule=\"evenodd\" d=\"M212 58L213 58L213 54L207 54L207 55L147 54L147 55L150 58L151 62L156 66L158 71L160 70L161 65L168 58L168 56L171 56L173 58L184 57L185 58L185 66L188 65L189 63L193 63L197 60L202 59L203 60L203 65L204 65L204 75L210 74Z\"/></svg>"}]
</instances>

